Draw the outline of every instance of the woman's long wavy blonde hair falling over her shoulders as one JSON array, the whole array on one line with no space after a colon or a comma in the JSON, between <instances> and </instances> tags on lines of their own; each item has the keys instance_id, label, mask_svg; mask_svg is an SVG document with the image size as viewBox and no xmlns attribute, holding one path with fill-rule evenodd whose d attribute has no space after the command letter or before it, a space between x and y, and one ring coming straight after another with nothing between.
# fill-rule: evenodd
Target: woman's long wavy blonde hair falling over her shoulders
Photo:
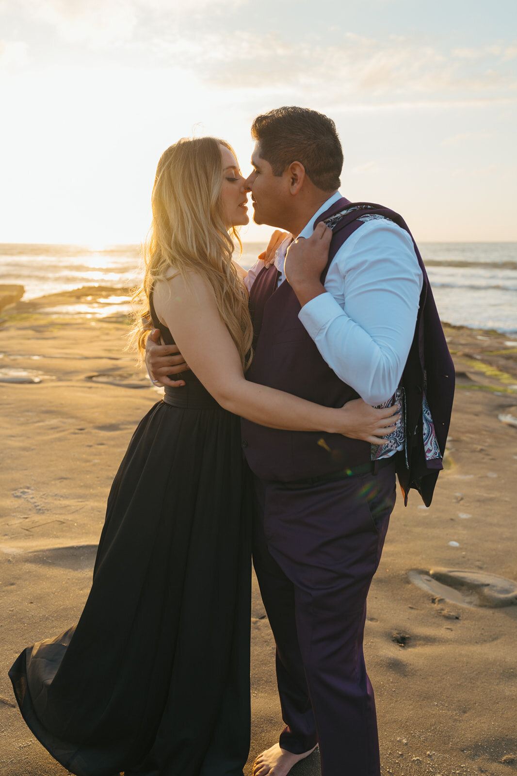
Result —
<instances>
[{"instance_id":1,"label":"woman's long wavy blonde hair falling over her shoulders","mask_svg":"<svg viewBox=\"0 0 517 776\"><path fill-rule=\"evenodd\" d=\"M232 237L240 248L241 241L234 227L228 232L220 198L220 145L234 153L230 145L215 137L182 138L158 161L151 196L151 230L143 248L144 281L133 295L137 309L130 343L137 346L140 361L153 328L149 296L158 280L171 277L172 269L186 282L190 272L199 272L210 282L242 368L247 369L251 362L253 327L248 293L231 261Z\"/></svg>"}]
</instances>

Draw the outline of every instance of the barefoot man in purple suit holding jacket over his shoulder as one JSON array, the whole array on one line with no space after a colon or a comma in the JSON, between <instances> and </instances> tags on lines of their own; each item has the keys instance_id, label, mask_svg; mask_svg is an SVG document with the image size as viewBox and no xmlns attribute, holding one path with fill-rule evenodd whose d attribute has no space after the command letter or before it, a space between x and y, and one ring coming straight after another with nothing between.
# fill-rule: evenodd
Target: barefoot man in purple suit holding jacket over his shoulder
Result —
<instances>
[{"instance_id":1,"label":"barefoot man in purple suit holding jacket over his shoulder","mask_svg":"<svg viewBox=\"0 0 517 776\"><path fill-rule=\"evenodd\" d=\"M248 273L255 328L248 379L335 407L357 396L402 401L405 393L405 429L374 453L339 435L242 421L255 474L254 565L286 722L254 774L285 776L319 743L324 776L379 776L363 660L366 595L394 507L395 461L406 494L418 487L425 503L432 497L452 364L404 221L338 192L343 158L334 123L280 108L255 119L252 137L254 220L290 235L274 265ZM152 354L160 351L149 347L150 372L159 376Z\"/></svg>"}]
</instances>

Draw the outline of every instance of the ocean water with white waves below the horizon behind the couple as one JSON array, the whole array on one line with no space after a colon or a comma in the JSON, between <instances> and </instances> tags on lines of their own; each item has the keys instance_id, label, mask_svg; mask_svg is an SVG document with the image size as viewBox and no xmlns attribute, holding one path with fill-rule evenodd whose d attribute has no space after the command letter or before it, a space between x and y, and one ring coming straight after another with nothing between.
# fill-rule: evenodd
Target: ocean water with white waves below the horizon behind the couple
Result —
<instances>
[{"instance_id":1,"label":"ocean water with white waves below the horizon behind the couple","mask_svg":"<svg viewBox=\"0 0 517 776\"><path fill-rule=\"evenodd\" d=\"M241 265L252 266L263 248L245 243ZM419 248L443 321L517 334L517 243L422 243ZM0 244L0 282L23 285L25 300L82 286L135 286L141 272L137 245Z\"/></svg>"}]
</instances>

